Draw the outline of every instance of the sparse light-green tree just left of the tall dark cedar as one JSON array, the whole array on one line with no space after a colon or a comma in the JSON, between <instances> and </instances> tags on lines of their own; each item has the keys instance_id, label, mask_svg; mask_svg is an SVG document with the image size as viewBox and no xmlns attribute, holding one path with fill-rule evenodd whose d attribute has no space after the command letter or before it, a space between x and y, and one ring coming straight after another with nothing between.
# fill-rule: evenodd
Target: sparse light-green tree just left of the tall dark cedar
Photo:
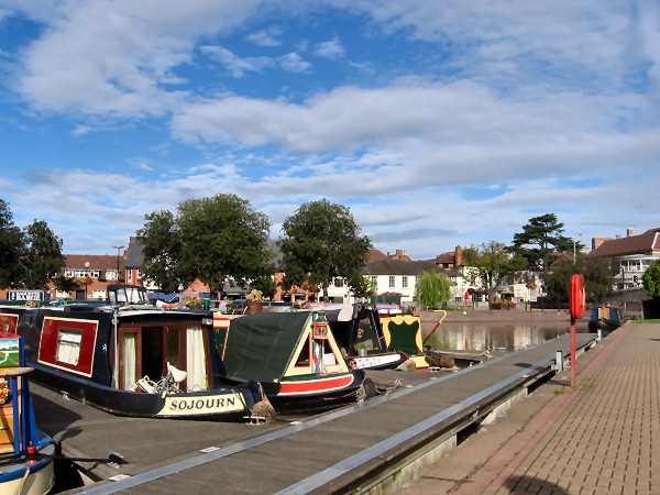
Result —
<instances>
[{"instance_id":1,"label":"sparse light-green tree just left of the tall dark cedar","mask_svg":"<svg viewBox=\"0 0 660 495\"><path fill-rule=\"evenodd\" d=\"M504 243L490 241L480 245L472 245L463 252L466 266L474 270L468 274L471 284L481 286L488 293L488 299L495 299L497 286L504 278L527 266L524 256L512 256Z\"/></svg>"}]
</instances>

